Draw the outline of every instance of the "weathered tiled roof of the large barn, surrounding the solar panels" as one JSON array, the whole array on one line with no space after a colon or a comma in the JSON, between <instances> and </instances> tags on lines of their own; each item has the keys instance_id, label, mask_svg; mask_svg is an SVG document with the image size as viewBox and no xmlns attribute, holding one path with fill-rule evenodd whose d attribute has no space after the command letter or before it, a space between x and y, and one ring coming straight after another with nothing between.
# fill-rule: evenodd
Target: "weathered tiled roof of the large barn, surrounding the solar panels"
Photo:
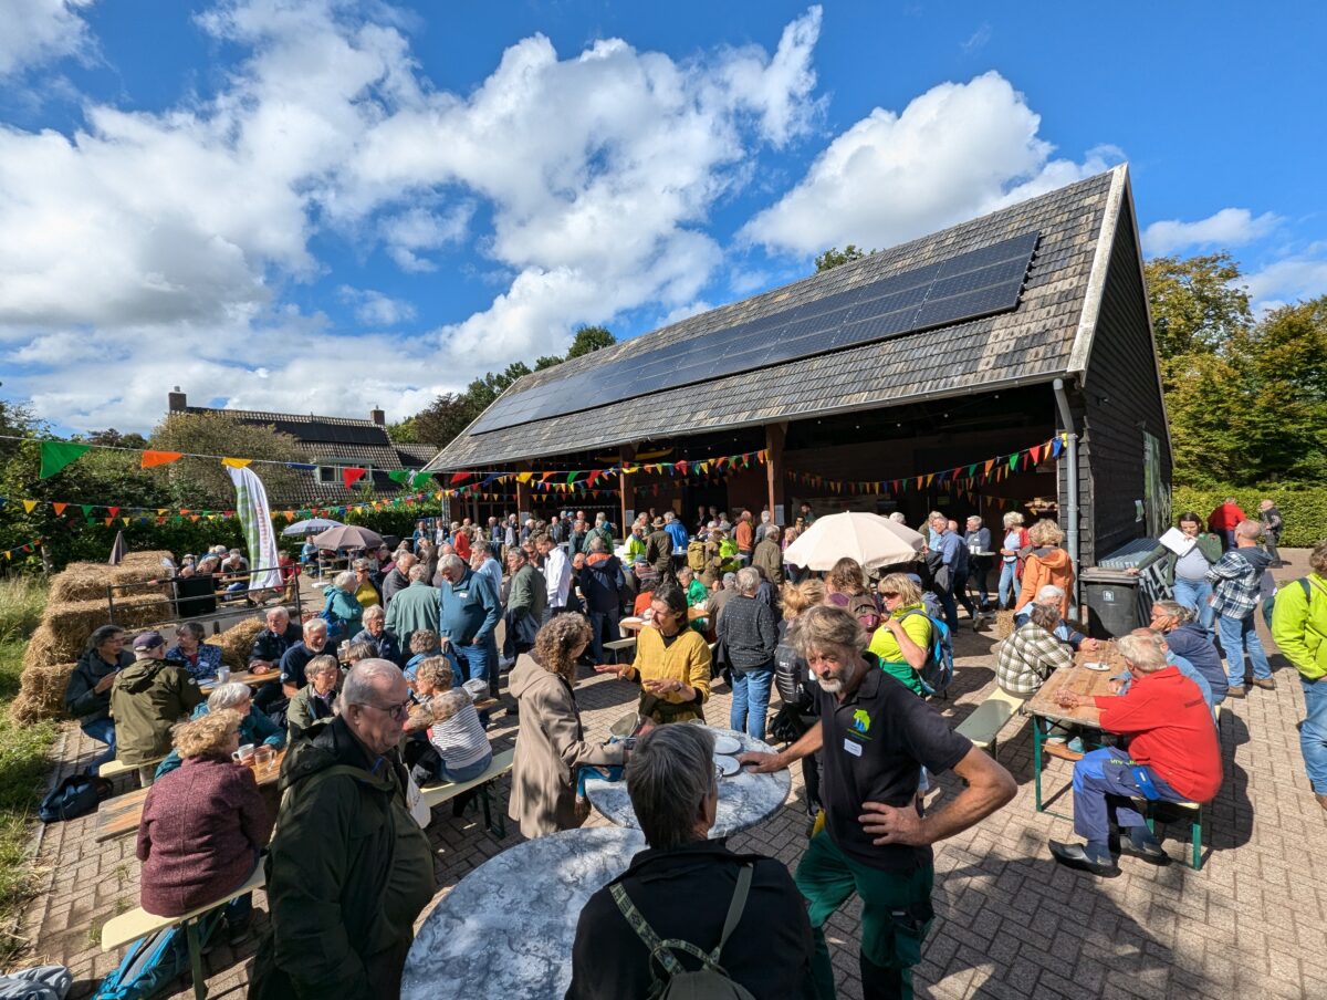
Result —
<instances>
[{"instance_id":1,"label":"weathered tiled roof of the large barn, surrounding the solar panels","mask_svg":"<svg viewBox=\"0 0 1327 1000\"><path fill-rule=\"evenodd\" d=\"M880 282L998 240L1039 231L1018 308L752 372L622 398L592 410L475 433L476 421L426 466L500 469L520 459L664 437L876 409L1002 385L1044 382L1085 368L1109 238L1128 194L1124 165L930 236L723 305L516 381L535 386ZM1103 250L1104 247L1104 250ZM1096 288L1095 295L1089 290Z\"/></svg>"}]
</instances>

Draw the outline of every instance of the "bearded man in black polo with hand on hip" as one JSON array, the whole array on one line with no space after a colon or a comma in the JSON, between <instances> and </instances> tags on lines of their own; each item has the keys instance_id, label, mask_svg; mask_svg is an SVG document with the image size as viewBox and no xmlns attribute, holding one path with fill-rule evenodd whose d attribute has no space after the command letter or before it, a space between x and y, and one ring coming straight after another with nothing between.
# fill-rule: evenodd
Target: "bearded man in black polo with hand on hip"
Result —
<instances>
[{"instance_id":1,"label":"bearded man in black polo with hand on hip","mask_svg":"<svg viewBox=\"0 0 1327 1000\"><path fill-rule=\"evenodd\" d=\"M865 1000L910 997L912 967L934 911L930 845L966 830L1003 806L1014 778L865 652L867 633L851 614L815 607L798 618L795 643L819 684L820 721L782 753L739 758L780 770L820 752L825 829L798 866L809 903L820 1000L835 995L824 939L829 915L861 898L861 985ZM967 782L937 813L922 817L921 769L953 770Z\"/></svg>"}]
</instances>

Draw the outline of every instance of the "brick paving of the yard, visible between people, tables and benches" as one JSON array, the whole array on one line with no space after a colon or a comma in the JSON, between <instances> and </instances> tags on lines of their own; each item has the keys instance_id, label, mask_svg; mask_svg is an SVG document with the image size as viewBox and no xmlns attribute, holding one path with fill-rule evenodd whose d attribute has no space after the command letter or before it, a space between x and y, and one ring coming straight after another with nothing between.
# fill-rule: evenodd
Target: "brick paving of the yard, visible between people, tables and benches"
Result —
<instances>
[{"instance_id":1,"label":"brick paving of the yard, visible between people, tables and benches","mask_svg":"<svg viewBox=\"0 0 1327 1000\"><path fill-rule=\"evenodd\" d=\"M1304 571L1304 552L1277 571L1291 579ZM991 637L958 637L957 695L942 703L962 720L994 684ZM1018 798L973 830L937 847L937 919L917 968L920 996L936 997L1323 997L1327 996L1327 822L1308 790L1295 722L1303 700L1283 660L1275 692L1251 691L1234 703L1222 725L1226 781L1210 809L1212 853L1201 873L1173 863L1157 869L1125 858L1124 874L1093 879L1059 869L1046 851L1050 837L1072 839L1064 819L1032 809L1031 741L1023 721L1011 722L1001 761L1019 782ZM630 685L593 677L580 688L591 738L633 707ZM711 722L725 722L726 689L707 707ZM514 729L502 716L494 730L499 748ZM57 777L90 745L68 726L54 749ZM1070 766L1052 761L1048 793L1068 780ZM933 805L954 785L941 780ZM731 839L736 850L756 850L795 866L807 822L794 780L788 803L767 822ZM1070 803L1060 799L1060 811ZM593 821L592 821L593 822ZM602 822L602 821L600 821ZM57 823L40 834L38 863L45 891L25 927L36 955L68 964L74 996L86 996L118 960L97 947L101 923L138 902L138 862L130 838L96 845L93 818ZM454 819L434 813L430 835L435 874L445 895L458 879L519 841L484 833L475 815ZM1188 849L1186 827L1168 831L1176 859ZM533 891L532 880L532 891ZM256 896L256 920L265 902ZM515 915L514 915L515 916ZM519 919L519 918L518 918ZM857 910L849 904L829 923L839 971L839 995L861 995L857 976ZM252 944L232 951L224 942L207 956L212 996L242 996ZM439 997L447 996L439 984ZM179 997L191 996L182 984Z\"/></svg>"}]
</instances>

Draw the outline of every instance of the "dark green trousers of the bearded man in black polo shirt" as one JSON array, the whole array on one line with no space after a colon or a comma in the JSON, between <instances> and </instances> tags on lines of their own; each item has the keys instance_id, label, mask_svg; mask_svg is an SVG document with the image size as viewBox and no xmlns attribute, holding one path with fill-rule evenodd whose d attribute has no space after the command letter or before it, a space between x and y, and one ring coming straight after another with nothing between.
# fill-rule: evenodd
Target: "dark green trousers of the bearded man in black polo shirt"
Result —
<instances>
[{"instance_id":1,"label":"dark green trousers of the bearded man in black polo shirt","mask_svg":"<svg viewBox=\"0 0 1327 1000\"><path fill-rule=\"evenodd\" d=\"M921 961L921 944L933 916L934 869L930 865L910 871L867 867L840 851L821 830L802 855L796 882L811 904L808 915L816 944L811 973L820 1000L835 997L824 924L853 892L861 899L863 996L910 1000L912 967Z\"/></svg>"}]
</instances>

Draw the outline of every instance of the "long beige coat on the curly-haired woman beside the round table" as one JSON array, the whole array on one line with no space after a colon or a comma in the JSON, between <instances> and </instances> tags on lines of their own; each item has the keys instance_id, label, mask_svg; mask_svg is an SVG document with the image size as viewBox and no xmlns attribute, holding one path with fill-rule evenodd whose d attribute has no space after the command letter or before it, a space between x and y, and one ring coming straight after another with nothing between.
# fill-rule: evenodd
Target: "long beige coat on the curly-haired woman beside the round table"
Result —
<instances>
[{"instance_id":1,"label":"long beige coat on the curly-haired woman beside the round table","mask_svg":"<svg viewBox=\"0 0 1327 1000\"><path fill-rule=\"evenodd\" d=\"M585 742L571 685L528 653L516 657L507 684L520 703L507 814L531 838L580 826L576 769L583 764L621 764L625 748Z\"/></svg>"}]
</instances>

